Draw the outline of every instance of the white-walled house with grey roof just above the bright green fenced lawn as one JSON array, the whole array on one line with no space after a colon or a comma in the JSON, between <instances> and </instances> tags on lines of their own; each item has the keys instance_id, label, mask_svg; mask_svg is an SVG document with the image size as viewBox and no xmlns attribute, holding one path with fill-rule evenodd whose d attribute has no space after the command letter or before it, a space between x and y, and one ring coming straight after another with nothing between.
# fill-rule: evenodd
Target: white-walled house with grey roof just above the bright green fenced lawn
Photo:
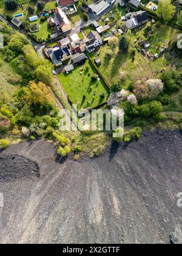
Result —
<instances>
[{"instance_id":1,"label":"white-walled house with grey roof just above the bright green fenced lawn","mask_svg":"<svg viewBox=\"0 0 182 256\"><path fill-rule=\"evenodd\" d=\"M91 30L87 35L88 41L86 41L86 49L88 52L95 51L95 48L103 44L103 40L98 32Z\"/></svg>"}]
</instances>

